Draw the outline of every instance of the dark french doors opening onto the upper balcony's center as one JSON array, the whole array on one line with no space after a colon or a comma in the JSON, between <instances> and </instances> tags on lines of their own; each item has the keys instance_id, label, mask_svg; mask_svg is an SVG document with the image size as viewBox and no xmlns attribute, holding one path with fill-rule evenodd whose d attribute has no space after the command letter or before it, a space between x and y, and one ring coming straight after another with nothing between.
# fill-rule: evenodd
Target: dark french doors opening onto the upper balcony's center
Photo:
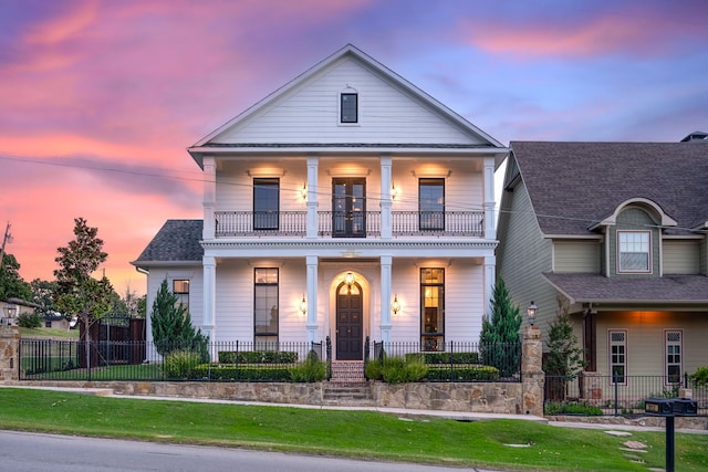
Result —
<instances>
[{"instance_id":1,"label":"dark french doors opening onto the upper balcony's center","mask_svg":"<svg viewBox=\"0 0 708 472\"><path fill-rule=\"evenodd\" d=\"M366 237L366 179L332 179L332 235Z\"/></svg>"}]
</instances>

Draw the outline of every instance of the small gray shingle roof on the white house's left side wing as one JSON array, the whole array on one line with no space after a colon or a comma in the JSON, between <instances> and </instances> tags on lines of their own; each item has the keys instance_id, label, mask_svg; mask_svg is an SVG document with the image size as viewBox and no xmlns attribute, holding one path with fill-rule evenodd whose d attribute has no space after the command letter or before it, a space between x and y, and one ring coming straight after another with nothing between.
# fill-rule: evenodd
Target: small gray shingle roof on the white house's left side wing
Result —
<instances>
[{"instance_id":1,"label":"small gray shingle roof on the white house's left side wing","mask_svg":"<svg viewBox=\"0 0 708 472\"><path fill-rule=\"evenodd\" d=\"M202 220L167 220L133 264L201 261L202 227Z\"/></svg>"}]
</instances>

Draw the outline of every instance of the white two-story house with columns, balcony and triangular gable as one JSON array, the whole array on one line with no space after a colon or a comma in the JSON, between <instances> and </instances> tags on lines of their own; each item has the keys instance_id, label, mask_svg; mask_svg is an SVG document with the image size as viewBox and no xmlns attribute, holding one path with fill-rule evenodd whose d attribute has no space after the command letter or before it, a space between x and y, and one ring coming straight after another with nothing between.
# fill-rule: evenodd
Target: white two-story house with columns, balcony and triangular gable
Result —
<instances>
[{"instance_id":1,"label":"white two-story house with columns, balcony and triangular gable","mask_svg":"<svg viewBox=\"0 0 708 472\"><path fill-rule=\"evenodd\" d=\"M479 340L508 148L383 64L347 45L188 151L204 220L133 262L148 312L167 279L212 342Z\"/></svg>"}]
</instances>

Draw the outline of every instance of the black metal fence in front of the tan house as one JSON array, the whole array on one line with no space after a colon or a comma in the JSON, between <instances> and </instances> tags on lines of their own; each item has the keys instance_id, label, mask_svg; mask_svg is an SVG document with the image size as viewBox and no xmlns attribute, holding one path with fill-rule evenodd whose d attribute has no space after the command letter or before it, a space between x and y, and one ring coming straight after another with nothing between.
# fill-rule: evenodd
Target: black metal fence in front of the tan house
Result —
<instances>
[{"instance_id":1,"label":"black metal fence in front of the tan house","mask_svg":"<svg viewBox=\"0 0 708 472\"><path fill-rule=\"evenodd\" d=\"M691 384L688 375L679 381L666 376L580 375L545 377L546 412L559 406L596 407L602 415L631 416L644 413L647 398L677 398L679 389L690 388L698 405L698 415L708 415L708 386ZM579 410L582 413L582 408Z\"/></svg>"}]
</instances>

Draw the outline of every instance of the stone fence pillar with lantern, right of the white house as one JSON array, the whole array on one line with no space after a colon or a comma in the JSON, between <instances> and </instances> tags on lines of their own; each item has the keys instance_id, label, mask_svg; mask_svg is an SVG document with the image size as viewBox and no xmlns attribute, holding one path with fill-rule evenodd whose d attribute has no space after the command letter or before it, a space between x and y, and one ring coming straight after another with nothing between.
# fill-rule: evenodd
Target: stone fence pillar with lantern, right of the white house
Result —
<instances>
[{"instance_id":1,"label":"stone fence pillar with lantern, right of the white house","mask_svg":"<svg viewBox=\"0 0 708 472\"><path fill-rule=\"evenodd\" d=\"M543 384L545 374L541 368L543 343L538 326L527 326L521 346L521 384L523 389L523 412L543 416Z\"/></svg>"}]
</instances>

